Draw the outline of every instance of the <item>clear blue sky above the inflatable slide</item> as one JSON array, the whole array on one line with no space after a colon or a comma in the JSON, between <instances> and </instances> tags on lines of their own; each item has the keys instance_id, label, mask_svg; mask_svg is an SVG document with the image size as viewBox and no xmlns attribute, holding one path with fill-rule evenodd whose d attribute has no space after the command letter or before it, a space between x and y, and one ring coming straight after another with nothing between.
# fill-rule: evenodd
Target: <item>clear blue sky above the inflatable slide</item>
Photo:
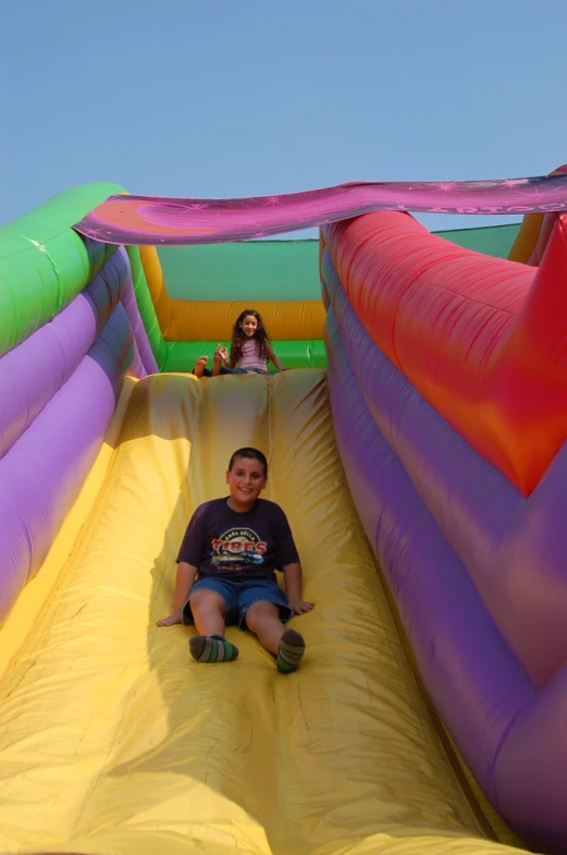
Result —
<instances>
[{"instance_id":1,"label":"clear blue sky above the inflatable slide","mask_svg":"<svg viewBox=\"0 0 567 855\"><path fill-rule=\"evenodd\" d=\"M566 24L564 0L7 2L0 223L94 180L234 197L546 173Z\"/></svg>"}]
</instances>

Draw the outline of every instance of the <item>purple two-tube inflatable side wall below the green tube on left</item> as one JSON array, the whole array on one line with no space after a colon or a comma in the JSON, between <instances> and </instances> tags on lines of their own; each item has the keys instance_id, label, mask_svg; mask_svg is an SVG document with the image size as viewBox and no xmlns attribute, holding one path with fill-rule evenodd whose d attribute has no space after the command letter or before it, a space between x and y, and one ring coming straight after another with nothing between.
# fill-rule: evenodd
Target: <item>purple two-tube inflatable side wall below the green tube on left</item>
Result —
<instances>
[{"instance_id":1,"label":"purple two-tube inflatable side wall below the green tube on left","mask_svg":"<svg viewBox=\"0 0 567 855\"><path fill-rule=\"evenodd\" d=\"M122 247L0 359L0 624L88 475L124 375L156 368Z\"/></svg>"}]
</instances>

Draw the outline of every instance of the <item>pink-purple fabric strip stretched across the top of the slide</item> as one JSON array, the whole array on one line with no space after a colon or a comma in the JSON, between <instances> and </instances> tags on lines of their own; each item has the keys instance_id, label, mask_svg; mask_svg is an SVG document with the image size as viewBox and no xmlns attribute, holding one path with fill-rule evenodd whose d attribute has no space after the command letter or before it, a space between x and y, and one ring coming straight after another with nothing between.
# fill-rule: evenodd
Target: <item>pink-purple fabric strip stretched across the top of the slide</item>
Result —
<instances>
[{"instance_id":1,"label":"pink-purple fabric strip stretched across the top of the slide","mask_svg":"<svg viewBox=\"0 0 567 855\"><path fill-rule=\"evenodd\" d=\"M377 210L509 213L567 210L567 174L496 181L352 182L242 199L110 196L75 229L113 244L206 244L264 237Z\"/></svg>"}]
</instances>

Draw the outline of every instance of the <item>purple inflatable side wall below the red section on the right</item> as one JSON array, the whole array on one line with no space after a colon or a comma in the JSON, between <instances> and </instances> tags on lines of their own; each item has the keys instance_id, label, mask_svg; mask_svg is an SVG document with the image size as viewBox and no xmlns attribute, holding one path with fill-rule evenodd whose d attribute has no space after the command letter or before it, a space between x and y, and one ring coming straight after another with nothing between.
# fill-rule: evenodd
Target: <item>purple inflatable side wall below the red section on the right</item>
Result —
<instances>
[{"instance_id":1,"label":"purple inflatable side wall below the red section on the right","mask_svg":"<svg viewBox=\"0 0 567 855\"><path fill-rule=\"evenodd\" d=\"M326 251L322 269L336 438L426 685L495 808L565 851L567 449L523 499L377 347Z\"/></svg>"}]
</instances>

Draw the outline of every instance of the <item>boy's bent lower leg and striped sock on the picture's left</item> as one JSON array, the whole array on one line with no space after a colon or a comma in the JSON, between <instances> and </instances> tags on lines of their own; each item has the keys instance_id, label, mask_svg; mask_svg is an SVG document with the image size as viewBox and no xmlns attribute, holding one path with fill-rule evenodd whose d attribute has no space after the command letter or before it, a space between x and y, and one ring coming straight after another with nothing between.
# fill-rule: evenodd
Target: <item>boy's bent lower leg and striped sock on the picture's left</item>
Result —
<instances>
[{"instance_id":1,"label":"boy's bent lower leg and striped sock on the picture's left","mask_svg":"<svg viewBox=\"0 0 567 855\"><path fill-rule=\"evenodd\" d=\"M215 590L201 589L189 597L198 635L189 638L189 649L197 662L231 662L238 648L224 638L226 603Z\"/></svg>"}]
</instances>

